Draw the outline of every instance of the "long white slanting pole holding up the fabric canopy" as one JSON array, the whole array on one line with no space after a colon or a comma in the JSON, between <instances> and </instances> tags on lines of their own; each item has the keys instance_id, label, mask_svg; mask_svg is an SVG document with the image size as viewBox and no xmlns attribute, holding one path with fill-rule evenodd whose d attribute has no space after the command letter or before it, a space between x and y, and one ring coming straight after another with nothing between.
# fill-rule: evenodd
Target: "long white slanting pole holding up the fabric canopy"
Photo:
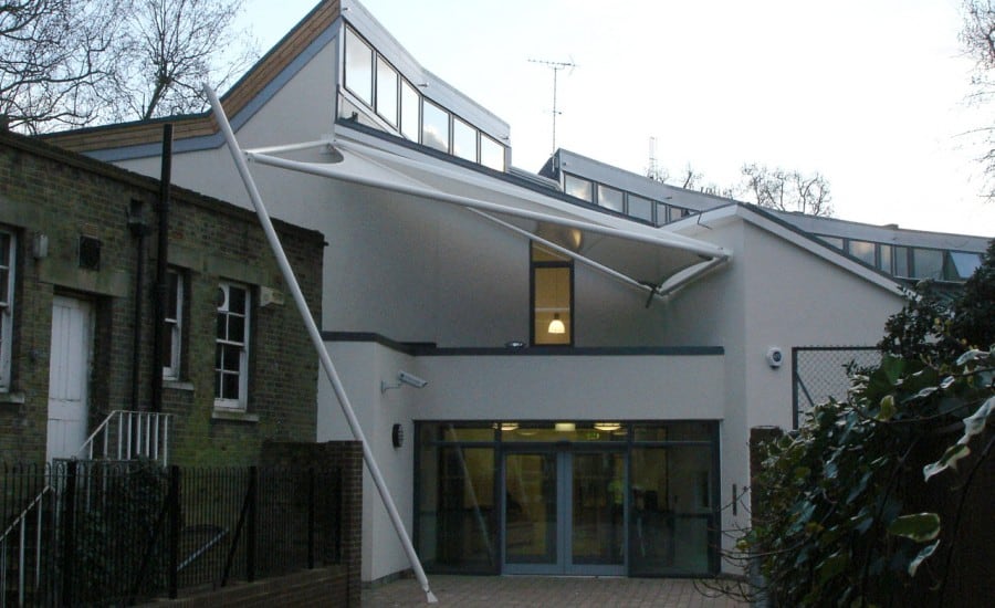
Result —
<instances>
[{"instance_id":1,"label":"long white slanting pole holding up the fabric canopy","mask_svg":"<svg viewBox=\"0 0 995 608\"><path fill-rule=\"evenodd\" d=\"M239 148L239 143L235 140L234 133L231 130L231 125L228 123L228 116L224 114L224 108L221 107L221 102L218 101L218 96L209 85L203 85L203 92L211 102L214 118L218 120L218 126L221 128L221 132L224 134L224 139L228 143L228 151L231 153L232 160L234 160L235 167L239 169L239 175L242 177L242 181L245 185L245 190L249 192L249 198L252 199L255 214L259 217L259 221L266 234L270 248L276 256L276 263L280 265L283 280L286 282L287 289L290 289L291 294L294 296L297 311L304 319L304 325L307 328L307 333L311 335L311 342L314 344L315 350L317 350L322 367L325 369L325 375L328 377L332 387L335 389L338 405L342 406L342 411L349 423L353 436L363 447L363 460L366 462L366 468L369 470L369 474L377 486L377 491L380 493L380 499L384 501L387 514L390 515L390 522L394 524L394 530L397 532L397 536L405 548L405 553L408 555L411 569L415 570L415 576L418 578L418 583L421 585L422 590L425 590L428 602L437 604L439 600L429 588L428 577L425 575L425 569L421 567L421 562L418 559L418 554L415 552L411 538L408 536L408 532L405 530L405 524L400 518L400 514L397 512L397 506L395 506L394 499L390 496L390 490L387 488L387 482L384 481L384 475L380 474L380 468L377 467L377 462L374 460L373 450L370 450L369 443L366 441L366 436L359 427L359 420L353 411L353 406L349 402L348 395L346 395L345 386L343 386L342 380L338 378L338 373L335 370L332 357L325 348L325 343L322 339L321 332L318 332L317 324L311 316L311 311L307 308L307 302L304 300L304 293L301 291L301 285L297 284L294 271L291 269L290 262L286 259L286 253L284 253L283 247L280 244L280 239L276 235L276 231L273 229L273 222L270 221L270 216L263 205L262 196L255 187L255 180L252 179L252 174L249 171L249 165L245 163L245 158L242 156L242 151Z\"/></svg>"}]
</instances>

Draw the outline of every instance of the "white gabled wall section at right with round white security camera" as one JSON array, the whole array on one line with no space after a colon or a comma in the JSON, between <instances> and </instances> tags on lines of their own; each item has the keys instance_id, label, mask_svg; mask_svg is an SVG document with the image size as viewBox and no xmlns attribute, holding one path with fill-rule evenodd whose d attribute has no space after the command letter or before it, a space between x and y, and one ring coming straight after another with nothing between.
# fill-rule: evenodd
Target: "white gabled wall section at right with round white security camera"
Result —
<instances>
[{"instance_id":1,"label":"white gabled wall section at right with round white security camera","mask_svg":"<svg viewBox=\"0 0 995 608\"><path fill-rule=\"evenodd\" d=\"M792 427L793 346L873 345L903 300L798 245L744 220L710 223L694 238L727 247L732 263L678 292L668 302L666 344L701 340L725 349L722 424L722 504L750 485L750 429ZM771 346L785 356L766 361ZM750 525L742 509L723 511L723 528ZM724 541L726 548L732 541Z\"/></svg>"}]
</instances>

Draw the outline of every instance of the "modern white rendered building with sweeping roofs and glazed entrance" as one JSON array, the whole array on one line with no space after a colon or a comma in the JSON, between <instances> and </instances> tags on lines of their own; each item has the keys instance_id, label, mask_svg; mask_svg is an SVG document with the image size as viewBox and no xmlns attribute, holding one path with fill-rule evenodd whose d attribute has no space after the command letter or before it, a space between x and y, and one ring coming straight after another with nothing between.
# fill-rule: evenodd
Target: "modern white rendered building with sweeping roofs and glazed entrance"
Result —
<instances>
[{"instance_id":1,"label":"modern white rendered building with sweeping roofs and glazed entrance","mask_svg":"<svg viewBox=\"0 0 995 608\"><path fill-rule=\"evenodd\" d=\"M880 245L908 245L859 224L663 203L643 191L661 185L565 151L551 169L648 207L512 168L509 126L353 0L318 4L222 102L270 212L325 234L325 346L430 573L729 570L750 429L794 423L783 357L873 345L904 303ZM210 117L172 122L174 181L249 206ZM160 123L53 139L155 176ZM693 213L661 220L667 205ZM846 230L872 260L817 237ZM984 240L933 249L962 254L944 258L956 273ZM352 439L318 392L317 440ZM363 579L407 569L369 480L364 504Z\"/></svg>"}]
</instances>

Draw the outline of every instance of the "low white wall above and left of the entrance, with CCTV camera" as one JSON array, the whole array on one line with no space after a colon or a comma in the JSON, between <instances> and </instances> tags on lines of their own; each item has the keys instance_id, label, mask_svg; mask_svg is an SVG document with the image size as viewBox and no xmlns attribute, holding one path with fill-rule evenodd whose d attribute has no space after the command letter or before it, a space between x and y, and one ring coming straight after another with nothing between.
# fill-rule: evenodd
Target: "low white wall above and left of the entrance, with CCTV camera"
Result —
<instances>
[{"instance_id":1,"label":"low white wall above and left of the entrance, with CCTV camera","mask_svg":"<svg viewBox=\"0 0 995 608\"><path fill-rule=\"evenodd\" d=\"M412 533L415 420L716 420L722 356L426 356L375 343L327 343L329 354L408 533ZM386 392L399 370L429 381ZM695 384L688 378L709 378ZM328 382L318 390L318 441L353 439ZM405 443L391 445L400 423ZM409 567L376 488L364 472L363 580Z\"/></svg>"}]
</instances>

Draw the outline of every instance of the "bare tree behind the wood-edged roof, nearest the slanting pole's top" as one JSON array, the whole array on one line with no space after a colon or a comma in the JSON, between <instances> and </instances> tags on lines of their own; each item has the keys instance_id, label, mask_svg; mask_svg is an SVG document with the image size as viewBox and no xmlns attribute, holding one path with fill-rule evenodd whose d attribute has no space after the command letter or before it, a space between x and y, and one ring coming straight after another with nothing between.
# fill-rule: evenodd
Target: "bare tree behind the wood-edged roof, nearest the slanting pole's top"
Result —
<instances>
[{"instance_id":1,"label":"bare tree behind the wood-edged roof, nearest the slanting pole's top","mask_svg":"<svg viewBox=\"0 0 995 608\"><path fill-rule=\"evenodd\" d=\"M224 87L258 56L249 34L233 29L243 4L129 0L107 118L148 119L203 109L201 83Z\"/></svg>"}]
</instances>

